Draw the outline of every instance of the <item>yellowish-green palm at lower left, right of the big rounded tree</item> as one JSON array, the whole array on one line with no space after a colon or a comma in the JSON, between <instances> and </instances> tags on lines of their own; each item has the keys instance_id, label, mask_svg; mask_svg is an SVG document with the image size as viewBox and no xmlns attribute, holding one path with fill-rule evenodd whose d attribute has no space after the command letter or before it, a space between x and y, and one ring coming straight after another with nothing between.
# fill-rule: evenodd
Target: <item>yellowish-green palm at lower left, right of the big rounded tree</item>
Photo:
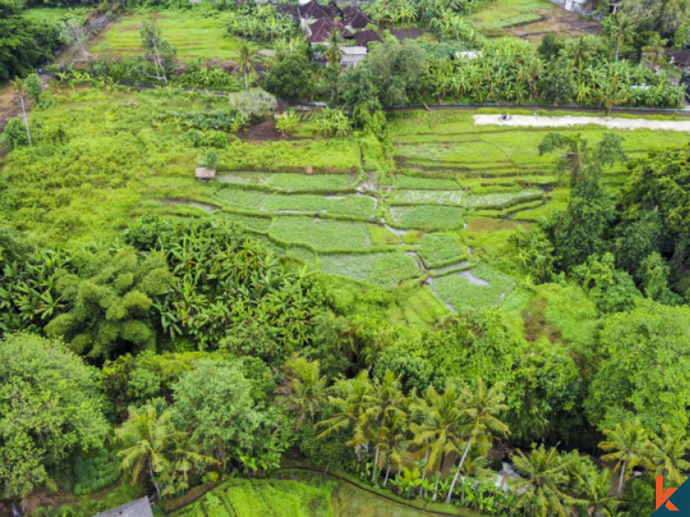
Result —
<instances>
[{"instance_id":1,"label":"yellowish-green palm at lower left, right of the big rounded tree","mask_svg":"<svg viewBox=\"0 0 690 517\"><path fill-rule=\"evenodd\" d=\"M129 417L122 427L115 429L115 436L126 449L117 453L122 461L120 468L132 470L132 483L137 482L139 474L148 469L151 483L161 497L159 478L170 468L170 460L165 452L175 435L175 426L170 420L169 410L158 416L156 408L149 405L141 409L128 408Z\"/></svg>"}]
</instances>

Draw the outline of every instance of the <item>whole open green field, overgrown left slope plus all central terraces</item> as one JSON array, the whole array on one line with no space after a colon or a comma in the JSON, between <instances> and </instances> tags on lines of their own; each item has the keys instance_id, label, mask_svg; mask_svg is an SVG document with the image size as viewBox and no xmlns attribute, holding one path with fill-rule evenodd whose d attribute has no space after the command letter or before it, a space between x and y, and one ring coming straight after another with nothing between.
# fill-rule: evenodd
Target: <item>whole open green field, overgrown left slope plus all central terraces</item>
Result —
<instances>
[{"instance_id":1,"label":"whole open green field, overgrown left slope plus all central terraces","mask_svg":"<svg viewBox=\"0 0 690 517\"><path fill-rule=\"evenodd\" d=\"M569 202L553 168L557 153L538 156L549 131L476 127L472 111L391 114L395 163L377 174L361 170L360 156L366 151L368 161L385 164L384 153L357 134L322 139L306 136L306 126L295 141L226 134L217 180L199 183L194 169L206 150L155 113L220 109L226 99L61 85L46 100L31 114L34 145L4 156L0 175L0 215L32 243L109 239L143 214L211 213L277 254L329 274L331 283L392 288L391 321L433 324L447 313L442 301L505 303L517 311L525 293L512 294L515 279L498 272L506 242L515 227ZM42 129L56 125L66 128L58 144ZM595 126L564 132L580 132L591 145L604 133ZM631 159L683 148L690 139L669 131L619 133ZM628 174L623 165L606 170L604 185L616 192ZM366 194L361 185L368 185ZM427 276L440 298L424 285Z\"/></svg>"}]
</instances>

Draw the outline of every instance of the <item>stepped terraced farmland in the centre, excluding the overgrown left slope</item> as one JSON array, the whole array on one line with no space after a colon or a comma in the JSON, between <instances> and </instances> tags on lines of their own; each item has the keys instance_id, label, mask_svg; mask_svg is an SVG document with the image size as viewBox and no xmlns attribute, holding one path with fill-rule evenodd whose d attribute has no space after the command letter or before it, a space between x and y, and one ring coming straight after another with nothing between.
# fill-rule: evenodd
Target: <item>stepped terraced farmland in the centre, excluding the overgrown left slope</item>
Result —
<instances>
[{"instance_id":1,"label":"stepped terraced farmland in the centre, excluding the overgrown left slope","mask_svg":"<svg viewBox=\"0 0 690 517\"><path fill-rule=\"evenodd\" d=\"M221 170L204 185L207 194L197 201L207 204L197 204L197 210L236 221L278 253L325 274L386 287L415 281L449 310L500 305L515 289L512 278L491 267L506 230L564 208L569 190L555 173L556 154L538 156L551 130L477 127L473 114L395 116L390 171L366 170L364 159L353 172L347 164L356 160L356 139L297 143L300 152L291 148L273 170ZM564 132L580 133L593 144L604 130ZM673 131L620 134L631 158L681 148L687 139ZM255 143L244 145L255 150ZM292 143L271 145L288 149ZM311 150L326 145L340 166L329 168L321 156L318 174L285 172L304 168ZM228 154L224 163L242 167L242 159ZM618 188L626 176L624 165L607 170L604 185ZM500 225L505 229L497 230Z\"/></svg>"}]
</instances>

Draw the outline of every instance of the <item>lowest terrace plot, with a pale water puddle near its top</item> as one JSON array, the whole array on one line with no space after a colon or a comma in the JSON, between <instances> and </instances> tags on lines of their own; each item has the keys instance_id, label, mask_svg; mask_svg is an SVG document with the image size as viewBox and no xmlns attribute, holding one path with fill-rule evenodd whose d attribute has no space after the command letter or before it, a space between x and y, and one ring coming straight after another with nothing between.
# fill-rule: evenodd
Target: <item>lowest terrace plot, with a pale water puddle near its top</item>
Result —
<instances>
[{"instance_id":1,"label":"lowest terrace plot, with a pale water puddle near its top","mask_svg":"<svg viewBox=\"0 0 690 517\"><path fill-rule=\"evenodd\" d=\"M469 271L434 278L433 287L455 309L486 308L498 305L513 290L515 282L489 267L478 265Z\"/></svg>"}]
</instances>

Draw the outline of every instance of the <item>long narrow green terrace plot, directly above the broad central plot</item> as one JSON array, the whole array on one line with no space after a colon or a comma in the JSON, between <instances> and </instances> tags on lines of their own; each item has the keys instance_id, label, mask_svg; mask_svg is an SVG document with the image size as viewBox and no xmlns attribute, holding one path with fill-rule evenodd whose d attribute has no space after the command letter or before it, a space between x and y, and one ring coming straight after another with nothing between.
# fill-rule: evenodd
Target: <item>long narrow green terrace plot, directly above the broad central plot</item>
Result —
<instances>
[{"instance_id":1,"label":"long narrow green terrace plot, directly above the broad central plot","mask_svg":"<svg viewBox=\"0 0 690 517\"><path fill-rule=\"evenodd\" d=\"M274 194L261 205L266 212L324 212L368 219L374 215L376 199L370 196L315 196Z\"/></svg>"}]
</instances>

